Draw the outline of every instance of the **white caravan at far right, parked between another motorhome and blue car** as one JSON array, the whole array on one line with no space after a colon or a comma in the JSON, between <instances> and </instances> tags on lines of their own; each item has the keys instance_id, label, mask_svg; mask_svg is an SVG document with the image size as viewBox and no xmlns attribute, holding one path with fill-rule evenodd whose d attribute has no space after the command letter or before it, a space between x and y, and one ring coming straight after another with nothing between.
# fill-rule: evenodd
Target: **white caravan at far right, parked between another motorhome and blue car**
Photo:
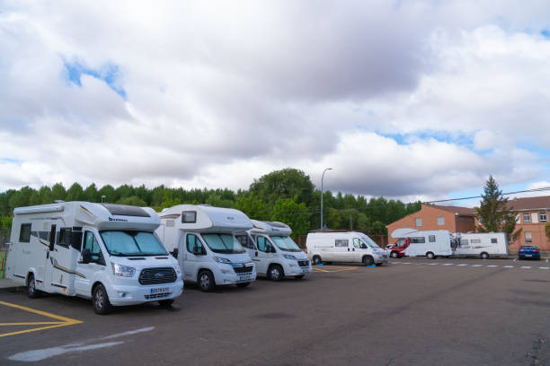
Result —
<instances>
[{"instance_id":1,"label":"white caravan at far right, parked between another motorhome and blue car","mask_svg":"<svg viewBox=\"0 0 550 366\"><path fill-rule=\"evenodd\" d=\"M460 257L508 257L509 247L505 232L457 233L452 244L453 255Z\"/></svg>"}]
</instances>

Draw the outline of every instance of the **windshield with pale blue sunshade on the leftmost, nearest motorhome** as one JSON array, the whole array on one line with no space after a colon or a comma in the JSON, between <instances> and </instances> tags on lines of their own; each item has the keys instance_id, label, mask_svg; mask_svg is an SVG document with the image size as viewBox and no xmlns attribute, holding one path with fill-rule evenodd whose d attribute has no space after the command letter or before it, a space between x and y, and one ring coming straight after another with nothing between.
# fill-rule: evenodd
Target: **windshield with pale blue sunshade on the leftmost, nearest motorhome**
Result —
<instances>
[{"instance_id":1,"label":"windshield with pale blue sunshade on the leftmost, nearest motorhome","mask_svg":"<svg viewBox=\"0 0 550 366\"><path fill-rule=\"evenodd\" d=\"M148 231L101 231L105 248L111 256L165 256L166 250Z\"/></svg>"}]
</instances>

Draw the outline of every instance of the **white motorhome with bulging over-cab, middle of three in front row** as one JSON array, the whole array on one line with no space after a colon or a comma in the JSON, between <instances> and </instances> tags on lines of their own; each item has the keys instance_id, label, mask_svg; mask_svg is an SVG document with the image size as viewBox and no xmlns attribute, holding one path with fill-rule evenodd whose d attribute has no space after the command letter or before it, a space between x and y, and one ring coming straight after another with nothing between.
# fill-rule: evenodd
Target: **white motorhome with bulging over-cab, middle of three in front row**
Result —
<instances>
[{"instance_id":1,"label":"white motorhome with bulging over-cab, middle of three in front row","mask_svg":"<svg viewBox=\"0 0 550 366\"><path fill-rule=\"evenodd\" d=\"M246 287L256 268L235 239L235 231L252 229L244 213L209 205L175 205L160 214L157 235L182 265L183 278L208 292L216 285Z\"/></svg>"}]
</instances>

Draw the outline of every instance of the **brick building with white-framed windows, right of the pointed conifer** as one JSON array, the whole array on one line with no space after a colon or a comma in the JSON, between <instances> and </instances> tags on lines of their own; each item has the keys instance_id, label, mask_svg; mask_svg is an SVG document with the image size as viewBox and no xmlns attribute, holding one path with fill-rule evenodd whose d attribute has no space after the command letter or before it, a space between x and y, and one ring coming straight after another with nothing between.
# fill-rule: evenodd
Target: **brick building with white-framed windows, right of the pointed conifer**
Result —
<instances>
[{"instance_id":1,"label":"brick building with white-framed windows, right of the pointed conifer","mask_svg":"<svg viewBox=\"0 0 550 366\"><path fill-rule=\"evenodd\" d=\"M546 237L545 225L550 214L550 196L513 198L508 208L516 213L516 230L522 229L518 240L510 241L510 249L532 244L541 250L550 250L550 240ZM477 225L477 220L475 220ZM510 238L509 238L510 240Z\"/></svg>"}]
</instances>

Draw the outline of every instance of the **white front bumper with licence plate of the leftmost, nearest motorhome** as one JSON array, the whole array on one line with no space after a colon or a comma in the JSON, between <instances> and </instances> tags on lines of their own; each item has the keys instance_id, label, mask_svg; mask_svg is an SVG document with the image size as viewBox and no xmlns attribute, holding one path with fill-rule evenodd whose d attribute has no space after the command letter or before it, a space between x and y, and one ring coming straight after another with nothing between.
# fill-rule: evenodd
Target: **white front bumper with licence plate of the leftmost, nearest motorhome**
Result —
<instances>
[{"instance_id":1,"label":"white front bumper with licence plate of the leftmost, nearest motorhome","mask_svg":"<svg viewBox=\"0 0 550 366\"><path fill-rule=\"evenodd\" d=\"M183 281L161 283L155 286L113 285L108 290L109 301L114 306L136 305L148 301L175 299L183 292Z\"/></svg>"}]
</instances>

